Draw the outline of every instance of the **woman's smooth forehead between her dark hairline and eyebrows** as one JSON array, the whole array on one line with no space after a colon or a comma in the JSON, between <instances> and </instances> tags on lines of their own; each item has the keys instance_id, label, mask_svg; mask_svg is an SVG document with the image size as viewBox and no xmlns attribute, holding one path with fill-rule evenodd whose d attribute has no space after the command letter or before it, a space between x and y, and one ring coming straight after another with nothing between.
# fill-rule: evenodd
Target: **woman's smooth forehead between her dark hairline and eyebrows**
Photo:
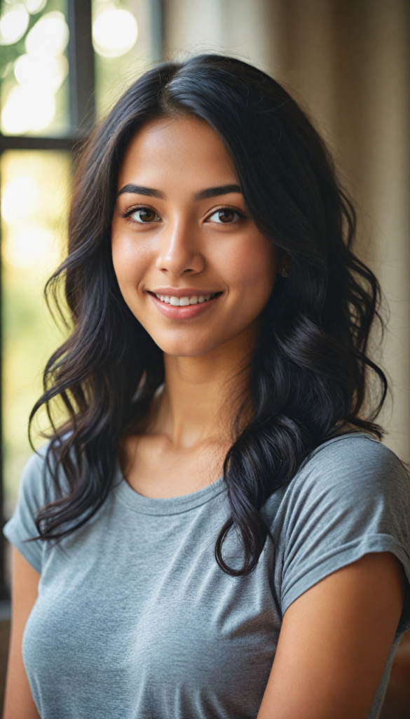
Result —
<instances>
[{"instance_id":1,"label":"woman's smooth forehead between her dark hairline and eyebrows","mask_svg":"<svg viewBox=\"0 0 410 719\"><path fill-rule=\"evenodd\" d=\"M195 186L237 181L218 133L208 122L192 116L149 122L131 139L118 175L118 188L131 180L149 184L161 178L186 183L195 180Z\"/></svg>"}]
</instances>

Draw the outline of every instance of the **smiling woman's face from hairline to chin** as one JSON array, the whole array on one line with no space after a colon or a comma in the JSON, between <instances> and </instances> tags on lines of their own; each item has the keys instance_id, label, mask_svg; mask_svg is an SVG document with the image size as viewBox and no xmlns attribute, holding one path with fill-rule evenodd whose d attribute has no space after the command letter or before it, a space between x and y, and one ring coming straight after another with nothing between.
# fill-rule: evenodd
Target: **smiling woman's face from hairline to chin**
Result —
<instances>
[{"instance_id":1,"label":"smiling woman's face from hairline to chin","mask_svg":"<svg viewBox=\"0 0 410 719\"><path fill-rule=\"evenodd\" d=\"M178 356L249 331L276 275L276 251L248 216L223 142L192 117L146 124L130 142L112 252L131 312Z\"/></svg>"}]
</instances>

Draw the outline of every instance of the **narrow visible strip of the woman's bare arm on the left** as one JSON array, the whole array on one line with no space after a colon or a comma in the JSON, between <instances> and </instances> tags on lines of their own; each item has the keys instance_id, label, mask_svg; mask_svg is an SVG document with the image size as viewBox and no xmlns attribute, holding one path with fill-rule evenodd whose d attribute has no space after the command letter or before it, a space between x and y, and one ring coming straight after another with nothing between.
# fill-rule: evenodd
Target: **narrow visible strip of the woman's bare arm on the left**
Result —
<instances>
[{"instance_id":1,"label":"narrow visible strip of the woman's bare arm on the left","mask_svg":"<svg viewBox=\"0 0 410 719\"><path fill-rule=\"evenodd\" d=\"M3 719L40 719L22 658L24 627L37 599L39 578L38 572L17 549L14 549L11 577L11 636Z\"/></svg>"}]
</instances>

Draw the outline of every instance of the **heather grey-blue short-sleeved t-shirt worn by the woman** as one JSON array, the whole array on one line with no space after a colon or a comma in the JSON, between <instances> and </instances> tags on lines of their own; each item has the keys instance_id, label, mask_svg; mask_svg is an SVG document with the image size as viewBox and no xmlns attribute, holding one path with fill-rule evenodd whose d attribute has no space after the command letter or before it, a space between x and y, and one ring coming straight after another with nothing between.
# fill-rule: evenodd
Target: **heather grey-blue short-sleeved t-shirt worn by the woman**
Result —
<instances>
[{"instance_id":1,"label":"heather grey-blue short-sleeved t-shirt worn by the woman","mask_svg":"<svg viewBox=\"0 0 410 719\"><path fill-rule=\"evenodd\" d=\"M42 719L254 719L282 617L302 592L374 551L393 552L410 580L409 480L363 434L320 446L266 502L274 544L248 577L228 576L213 556L228 513L223 480L150 499L118 470L106 503L73 536L24 543L50 487L42 452L4 530L41 574L23 656ZM234 533L225 551L241 561ZM369 718L408 628L409 591Z\"/></svg>"}]
</instances>

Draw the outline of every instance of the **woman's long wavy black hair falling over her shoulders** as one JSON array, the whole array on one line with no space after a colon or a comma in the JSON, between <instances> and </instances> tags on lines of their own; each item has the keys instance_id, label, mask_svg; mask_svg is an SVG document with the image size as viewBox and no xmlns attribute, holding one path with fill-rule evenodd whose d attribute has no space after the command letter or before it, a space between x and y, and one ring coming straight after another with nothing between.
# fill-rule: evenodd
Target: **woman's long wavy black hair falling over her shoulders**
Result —
<instances>
[{"instance_id":1,"label":"woman's long wavy black hair falling over her shoulders","mask_svg":"<svg viewBox=\"0 0 410 719\"><path fill-rule=\"evenodd\" d=\"M220 55L147 72L83 151L67 259L47 284L54 298L63 285L71 331L47 362L45 391L30 416L32 422L46 405L52 421L50 402L60 397L68 417L60 426L52 421L47 466L59 494L39 511L37 529L42 539L58 540L103 505L121 436L144 418L164 381L162 352L118 288L110 231L127 145L146 122L175 114L200 117L218 132L253 221L290 259L289 278L279 277L262 314L250 416L224 463L230 518L215 559L228 574L248 574L269 534L260 513L265 500L343 426L380 438L375 420L387 383L368 357L371 326L380 319L379 286L353 252L355 211L322 139L279 83ZM231 528L243 544L239 570L223 559Z\"/></svg>"}]
</instances>

